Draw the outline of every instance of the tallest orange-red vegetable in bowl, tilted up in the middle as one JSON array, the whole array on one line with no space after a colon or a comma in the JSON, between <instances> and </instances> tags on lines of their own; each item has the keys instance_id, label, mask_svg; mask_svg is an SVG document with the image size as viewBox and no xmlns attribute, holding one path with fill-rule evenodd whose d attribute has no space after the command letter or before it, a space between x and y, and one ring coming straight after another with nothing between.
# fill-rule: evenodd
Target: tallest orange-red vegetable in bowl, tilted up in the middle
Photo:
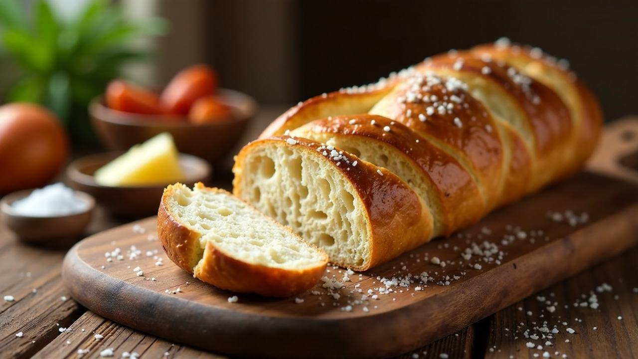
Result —
<instances>
[{"instance_id":1,"label":"tallest orange-red vegetable in bowl, tilted up in the middle","mask_svg":"<svg viewBox=\"0 0 638 359\"><path fill-rule=\"evenodd\" d=\"M206 65L195 65L177 73L161 94L164 110L186 115L199 98L212 95L217 88L217 75Z\"/></svg>"}]
</instances>

